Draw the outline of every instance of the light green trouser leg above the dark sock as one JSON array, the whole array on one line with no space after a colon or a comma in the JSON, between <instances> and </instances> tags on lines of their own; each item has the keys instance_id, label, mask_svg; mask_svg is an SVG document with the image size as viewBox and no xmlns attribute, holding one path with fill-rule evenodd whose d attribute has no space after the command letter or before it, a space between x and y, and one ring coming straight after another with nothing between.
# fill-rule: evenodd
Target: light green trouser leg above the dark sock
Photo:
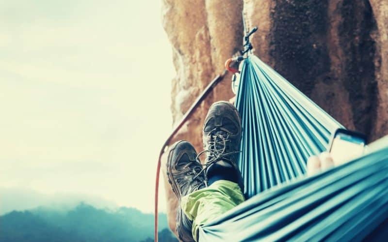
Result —
<instances>
[{"instance_id":1,"label":"light green trouser leg above the dark sock","mask_svg":"<svg viewBox=\"0 0 388 242\"><path fill-rule=\"evenodd\" d=\"M220 180L182 197L180 206L186 216L193 220L193 238L198 241L201 225L216 219L243 201L244 196L237 183Z\"/></svg>"}]
</instances>

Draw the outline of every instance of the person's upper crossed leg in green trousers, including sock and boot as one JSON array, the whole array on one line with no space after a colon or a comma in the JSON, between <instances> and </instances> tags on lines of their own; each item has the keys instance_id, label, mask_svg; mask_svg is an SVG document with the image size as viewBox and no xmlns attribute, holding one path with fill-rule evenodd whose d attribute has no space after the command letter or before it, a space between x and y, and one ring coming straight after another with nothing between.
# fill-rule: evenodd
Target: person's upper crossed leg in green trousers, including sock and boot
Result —
<instances>
[{"instance_id":1,"label":"person's upper crossed leg in green trousers, including sock and boot","mask_svg":"<svg viewBox=\"0 0 388 242\"><path fill-rule=\"evenodd\" d=\"M228 102L210 106L203 126L204 172L209 187L181 200L182 211L193 220L192 231L196 241L199 226L244 201L242 177L237 166L241 136L241 119L235 106Z\"/></svg>"}]
</instances>

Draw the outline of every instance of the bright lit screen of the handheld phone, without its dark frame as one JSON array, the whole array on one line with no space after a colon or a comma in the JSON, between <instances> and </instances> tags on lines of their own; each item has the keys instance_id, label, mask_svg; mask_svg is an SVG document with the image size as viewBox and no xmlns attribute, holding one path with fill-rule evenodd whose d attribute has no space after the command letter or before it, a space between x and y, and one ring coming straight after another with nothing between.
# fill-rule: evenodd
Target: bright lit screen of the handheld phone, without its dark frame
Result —
<instances>
[{"instance_id":1,"label":"bright lit screen of the handheld phone, without its dark frame","mask_svg":"<svg viewBox=\"0 0 388 242\"><path fill-rule=\"evenodd\" d=\"M337 134L331 145L330 154L334 165L340 165L364 153L365 140L347 134Z\"/></svg>"}]
</instances>

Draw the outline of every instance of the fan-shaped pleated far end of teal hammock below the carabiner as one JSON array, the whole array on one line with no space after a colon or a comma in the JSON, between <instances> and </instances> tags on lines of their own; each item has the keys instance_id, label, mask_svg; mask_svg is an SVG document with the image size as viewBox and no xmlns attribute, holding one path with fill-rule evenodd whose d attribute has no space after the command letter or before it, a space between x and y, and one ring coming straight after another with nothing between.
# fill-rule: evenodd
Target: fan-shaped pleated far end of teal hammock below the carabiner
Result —
<instances>
[{"instance_id":1,"label":"fan-shaped pleated far end of teal hammock below the carabiner","mask_svg":"<svg viewBox=\"0 0 388 242\"><path fill-rule=\"evenodd\" d=\"M307 158L326 150L331 133L342 127L253 55L242 66L236 107L245 197L304 174Z\"/></svg>"}]
</instances>

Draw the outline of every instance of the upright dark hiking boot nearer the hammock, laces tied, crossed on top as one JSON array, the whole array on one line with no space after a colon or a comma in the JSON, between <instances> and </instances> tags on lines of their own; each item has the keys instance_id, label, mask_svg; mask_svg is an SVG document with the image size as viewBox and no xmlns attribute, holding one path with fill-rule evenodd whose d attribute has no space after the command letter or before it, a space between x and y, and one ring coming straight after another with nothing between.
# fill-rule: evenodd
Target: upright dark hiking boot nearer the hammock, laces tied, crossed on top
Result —
<instances>
[{"instance_id":1,"label":"upright dark hiking boot nearer the hammock, laces tied, crossed on top","mask_svg":"<svg viewBox=\"0 0 388 242\"><path fill-rule=\"evenodd\" d=\"M237 108L220 101L210 106L203 124L203 145L206 152L207 177L216 169L231 170L243 191L243 182L237 160L242 136L241 118Z\"/></svg>"}]
</instances>

